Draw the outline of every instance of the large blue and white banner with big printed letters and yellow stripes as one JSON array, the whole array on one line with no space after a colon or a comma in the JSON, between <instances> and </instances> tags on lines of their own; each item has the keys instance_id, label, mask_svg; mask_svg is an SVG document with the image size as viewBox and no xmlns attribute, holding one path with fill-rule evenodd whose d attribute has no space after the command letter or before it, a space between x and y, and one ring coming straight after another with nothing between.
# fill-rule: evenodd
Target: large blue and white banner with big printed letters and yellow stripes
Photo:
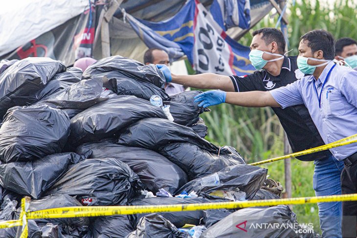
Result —
<instances>
[{"instance_id":1,"label":"large blue and white banner with big printed letters and yellow stripes","mask_svg":"<svg viewBox=\"0 0 357 238\"><path fill-rule=\"evenodd\" d=\"M185 54L198 73L245 75L255 71L249 48L229 36L198 0L188 0L172 18L148 22L126 14L135 32L149 48L168 52L170 60Z\"/></svg>"}]
</instances>

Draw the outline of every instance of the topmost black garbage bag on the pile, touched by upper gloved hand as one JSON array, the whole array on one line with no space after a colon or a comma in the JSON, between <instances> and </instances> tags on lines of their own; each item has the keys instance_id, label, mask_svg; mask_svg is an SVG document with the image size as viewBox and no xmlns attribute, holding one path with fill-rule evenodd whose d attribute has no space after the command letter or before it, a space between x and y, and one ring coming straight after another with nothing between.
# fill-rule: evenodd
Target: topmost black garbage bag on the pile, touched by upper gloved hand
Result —
<instances>
[{"instance_id":1,"label":"topmost black garbage bag on the pile, touched by upper gloved hand","mask_svg":"<svg viewBox=\"0 0 357 238\"><path fill-rule=\"evenodd\" d=\"M142 63L122 57L120 55L98 60L83 72L83 78L97 77L98 74L110 71L118 71L123 78L131 78L140 82L148 82L156 87L165 87L165 76L155 65L143 65ZM102 74L105 76L104 74Z\"/></svg>"}]
</instances>

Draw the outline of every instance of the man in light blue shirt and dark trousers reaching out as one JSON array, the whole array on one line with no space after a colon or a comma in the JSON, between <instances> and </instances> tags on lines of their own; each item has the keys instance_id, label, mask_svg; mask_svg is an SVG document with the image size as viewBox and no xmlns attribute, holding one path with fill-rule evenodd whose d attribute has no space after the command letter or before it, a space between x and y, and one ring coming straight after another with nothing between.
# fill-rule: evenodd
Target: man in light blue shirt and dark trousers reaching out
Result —
<instances>
[{"instance_id":1,"label":"man in light blue shirt and dark trousers reaching out","mask_svg":"<svg viewBox=\"0 0 357 238\"><path fill-rule=\"evenodd\" d=\"M270 91L224 92L212 90L196 96L200 106L229 103L245 107L281 107L305 104L324 142L357 133L357 71L335 65L335 39L325 30L301 37L297 65L305 74L286 87ZM357 145L330 150L343 161L342 194L357 193ZM356 238L357 202L343 202L342 236Z\"/></svg>"}]
</instances>

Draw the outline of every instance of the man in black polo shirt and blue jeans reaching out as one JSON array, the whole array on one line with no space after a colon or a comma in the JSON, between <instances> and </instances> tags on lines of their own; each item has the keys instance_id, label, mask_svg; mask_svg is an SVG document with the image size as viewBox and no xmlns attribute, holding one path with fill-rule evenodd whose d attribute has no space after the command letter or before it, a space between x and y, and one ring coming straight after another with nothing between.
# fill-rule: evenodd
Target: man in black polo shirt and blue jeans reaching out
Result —
<instances>
[{"instance_id":1,"label":"man in black polo shirt and blue jeans reaching out","mask_svg":"<svg viewBox=\"0 0 357 238\"><path fill-rule=\"evenodd\" d=\"M159 65L166 81L188 87L221 89L224 91L268 91L286 86L302 77L296 56L284 56L283 33L274 28L253 32L249 59L261 71L241 77L213 73L173 75L167 67ZM272 108L286 131L292 151L302 151L324 144L309 111L304 105ZM341 194L340 174L343 162L337 161L330 151L299 156L303 161L314 161L313 189L317 196ZM340 202L318 203L322 237L341 237L342 205Z\"/></svg>"}]
</instances>

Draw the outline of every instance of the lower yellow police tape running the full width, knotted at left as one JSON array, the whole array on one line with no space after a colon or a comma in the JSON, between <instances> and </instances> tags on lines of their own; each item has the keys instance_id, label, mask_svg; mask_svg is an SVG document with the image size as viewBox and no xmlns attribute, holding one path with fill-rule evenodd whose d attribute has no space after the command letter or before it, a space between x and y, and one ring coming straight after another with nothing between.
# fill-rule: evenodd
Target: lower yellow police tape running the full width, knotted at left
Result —
<instances>
[{"instance_id":1,"label":"lower yellow police tape running the full width, knotted at left","mask_svg":"<svg viewBox=\"0 0 357 238\"><path fill-rule=\"evenodd\" d=\"M193 203L193 204L173 204L173 205L149 205L149 206L95 206L95 207L63 207L26 212L28 201L22 198L22 213L19 220L8 220L0 222L0 229L14 226L22 226L21 238L28 235L27 219L43 218L70 218L84 216L114 216L132 215L141 213L164 213L164 212L184 212L209 209L236 209L247 207L262 207L276 205L298 205L317 202L340 202L357 201L357 194L330 195L313 197L296 197L284 199L267 199L237 202L215 202L215 203Z\"/></svg>"}]
</instances>

